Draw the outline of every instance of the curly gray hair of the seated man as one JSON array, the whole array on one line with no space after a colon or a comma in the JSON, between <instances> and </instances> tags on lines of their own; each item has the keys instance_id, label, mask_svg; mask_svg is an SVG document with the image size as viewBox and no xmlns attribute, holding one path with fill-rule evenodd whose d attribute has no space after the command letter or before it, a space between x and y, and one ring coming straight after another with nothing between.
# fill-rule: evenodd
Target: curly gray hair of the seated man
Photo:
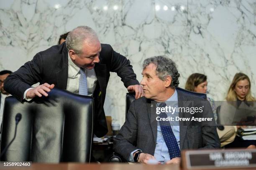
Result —
<instances>
[{"instance_id":1,"label":"curly gray hair of the seated man","mask_svg":"<svg viewBox=\"0 0 256 170\"><path fill-rule=\"evenodd\" d=\"M147 58L143 61L143 69L146 66L153 63L156 65L156 75L161 79L165 80L166 76L172 77L172 82L170 87L178 87L179 85L179 72L177 70L177 65L170 58L164 56L155 56Z\"/></svg>"}]
</instances>

